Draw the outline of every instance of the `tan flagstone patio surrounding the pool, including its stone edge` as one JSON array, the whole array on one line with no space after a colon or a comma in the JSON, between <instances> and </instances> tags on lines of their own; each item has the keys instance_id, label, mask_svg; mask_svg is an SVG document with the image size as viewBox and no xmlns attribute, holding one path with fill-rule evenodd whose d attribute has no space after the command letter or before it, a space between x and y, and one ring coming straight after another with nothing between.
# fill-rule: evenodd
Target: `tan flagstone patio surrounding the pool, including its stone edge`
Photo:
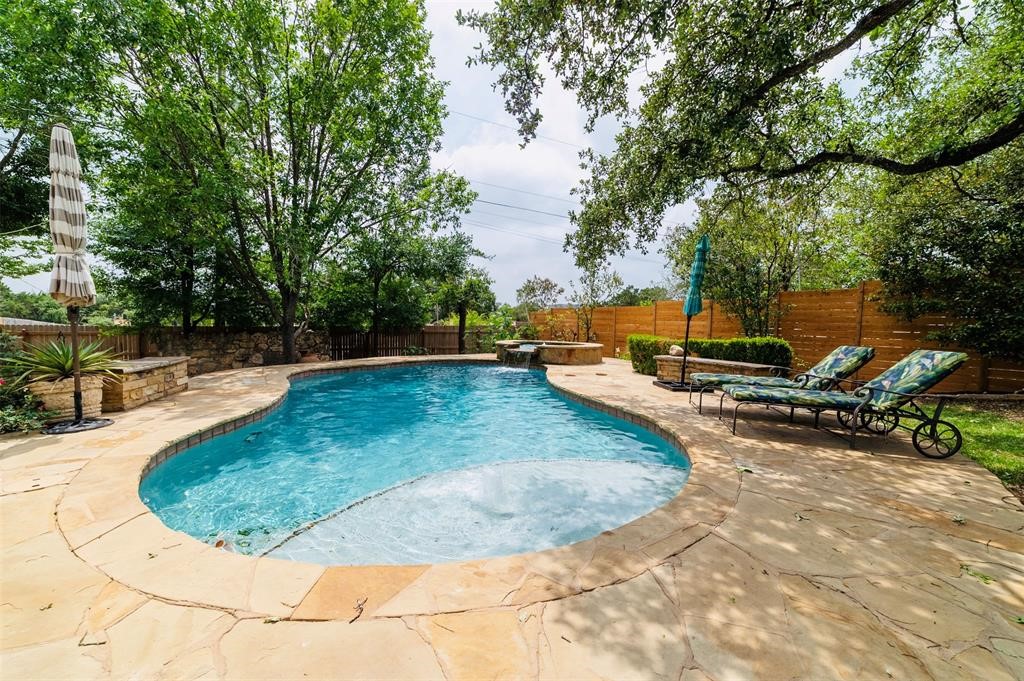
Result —
<instances>
[{"instance_id":1,"label":"tan flagstone patio surrounding the pool, including its stone edge","mask_svg":"<svg viewBox=\"0 0 1024 681\"><path fill-rule=\"evenodd\" d=\"M692 476L577 545L325 569L214 549L138 499L169 443L265 411L289 375L423 360L211 374L102 430L0 438L0 674L1024 679L1024 508L994 476L767 410L731 436L620 360L548 377L679 438Z\"/></svg>"}]
</instances>

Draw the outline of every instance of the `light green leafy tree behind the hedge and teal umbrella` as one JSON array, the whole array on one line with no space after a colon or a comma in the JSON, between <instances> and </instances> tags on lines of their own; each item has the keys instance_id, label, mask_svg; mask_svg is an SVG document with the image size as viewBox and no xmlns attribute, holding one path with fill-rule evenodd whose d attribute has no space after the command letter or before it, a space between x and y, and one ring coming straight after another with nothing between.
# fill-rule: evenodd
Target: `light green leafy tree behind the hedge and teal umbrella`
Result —
<instances>
[{"instance_id":1,"label":"light green leafy tree behind the hedge and teal umbrella","mask_svg":"<svg viewBox=\"0 0 1024 681\"><path fill-rule=\"evenodd\" d=\"M846 185L814 178L772 182L764 194L721 185L697 202L691 225L669 233L665 252L688 285L696 244L711 236L702 293L739 321L746 336L773 334L783 291L853 286L870 274L856 248L861 226L844 209Z\"/></svg>"}]
</instances>

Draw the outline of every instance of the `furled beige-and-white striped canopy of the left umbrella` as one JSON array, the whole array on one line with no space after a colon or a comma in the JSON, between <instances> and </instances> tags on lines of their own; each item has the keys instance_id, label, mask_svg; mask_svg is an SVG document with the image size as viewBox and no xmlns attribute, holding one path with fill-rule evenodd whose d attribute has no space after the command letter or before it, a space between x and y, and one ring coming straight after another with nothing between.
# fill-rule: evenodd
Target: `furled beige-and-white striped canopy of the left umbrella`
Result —
<instances>
[{"instance_id":1,"label":"furled beige-and-white striped canopy of the left umbrella","mask_svg":"<svg viewBox=\"0 0 1024 681\"><path fill-rule=\"evenodd\" d=\"M50 237L56 253L50 272L50 297L65 307L85 307L96 302L96 287L85 262L81 175L75 138L58 123L50 133Z\"/></svg>"}]
</instances>

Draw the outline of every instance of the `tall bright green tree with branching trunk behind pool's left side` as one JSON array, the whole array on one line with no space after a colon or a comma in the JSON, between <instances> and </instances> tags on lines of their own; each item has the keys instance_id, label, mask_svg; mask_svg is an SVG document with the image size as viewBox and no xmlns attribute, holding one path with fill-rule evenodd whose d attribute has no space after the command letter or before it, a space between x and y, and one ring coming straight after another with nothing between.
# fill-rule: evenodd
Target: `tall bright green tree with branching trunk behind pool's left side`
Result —
<instances>
[{"instance_id":1,"label":"tall bright green tree with branching trunk behind pool's left side","mask_svg":"<svg viewBox=\"0 0 1024 681\"><path fill-rule=\"evenodd\" d=\"M350 236L423 209L392 201L430 184L441 132L422 6L125 0L96 11L116 27L117 141L162 157L222 213L216 246L276 317L290 360L309 273Z\"/></svg>"}]
</instances>

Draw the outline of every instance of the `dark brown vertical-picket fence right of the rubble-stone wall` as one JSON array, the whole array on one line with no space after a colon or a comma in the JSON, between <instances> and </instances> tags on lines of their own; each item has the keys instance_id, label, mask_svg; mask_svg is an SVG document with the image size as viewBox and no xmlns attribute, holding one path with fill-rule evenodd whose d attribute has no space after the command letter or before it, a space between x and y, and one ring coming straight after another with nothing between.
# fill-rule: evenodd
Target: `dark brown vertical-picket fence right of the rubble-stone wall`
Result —
<instances>
[{"instance_id":1,"label":"dark brown vertical-picket fence right of the rubble-stone wall","mask_svg":"<svg viewBox=\"0 0 1024 681\"><path fill-rule=\"evenodd\" d=\"M479 329L466 330L467 350L472 351ZM429 354L457 354L459 352L459 327L430 326L413 331L331 331L328 346L332 359L357 359L360 357L394 357L406 354L411 348L424 348Z\"/></svg>"}]
</instances>

